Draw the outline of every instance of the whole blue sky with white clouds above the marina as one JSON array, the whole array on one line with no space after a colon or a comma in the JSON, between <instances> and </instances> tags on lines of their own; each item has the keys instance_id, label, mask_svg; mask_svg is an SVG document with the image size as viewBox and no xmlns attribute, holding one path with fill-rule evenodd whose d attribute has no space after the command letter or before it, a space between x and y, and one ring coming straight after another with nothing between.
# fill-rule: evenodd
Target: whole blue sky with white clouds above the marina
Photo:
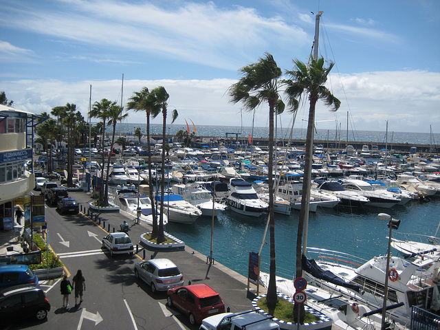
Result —
<instances>
[{"instance_id":1,"label":"whole blue sky with white clouds above the marina","mask_svg":"<svg viewBox=\"0 0 440 330\"><path fill-rule=\"evenodd\" d=\"M179 113L175 124L266 127L268 105L253 116L230 102L228 89L265 52L283 72L294 59L307 63L322 11L318 54L335 63L327 87L341 107L332 113L318 102L316 127L344 131L349 122L353 131L385 131L388 121L391 131L440 133L438 0L0 5L0 91L16 109L50 113L69 102L87 120L90 95L92 104L107 98L124 105L143 87L163 86L169 109ZM308 111L305 102L294 122L286 109L277 124L303 129ZM145 113L129 111L125 122L142 124Z\"/></svg>"}]
</instances>

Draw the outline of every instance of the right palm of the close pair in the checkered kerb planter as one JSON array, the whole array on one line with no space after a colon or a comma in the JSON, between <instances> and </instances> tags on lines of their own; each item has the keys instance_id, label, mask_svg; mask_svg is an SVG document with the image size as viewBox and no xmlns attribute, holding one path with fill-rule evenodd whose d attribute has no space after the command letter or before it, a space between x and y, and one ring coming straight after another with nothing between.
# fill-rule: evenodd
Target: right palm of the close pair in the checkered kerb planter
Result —
<instances>
[{"instance_id":1,"label":"right palm of the close pair in the checkered kerb planter","mask_svg":"<svg viewBox=\"0 0 440 330\"><path fill-rule=\"evenodd\" d=\"M166 115L168 113L168 98L170 98L169 94L166 92L166 89L162 86L156 87L151 91L151 101L153 102L153 107L155 109L159 108L162 111L162 144L165 142L166 135ZM171 112L171 124L176 120L177 109L174 109ZM165 192L165 153L162 152L162 178L160 180L161 185L161 201L160 201L160 216L159 216L159 226L157 228L157 243L162 243L165 241L164 236L164 192Z\"/></svg>"}]
</instances>

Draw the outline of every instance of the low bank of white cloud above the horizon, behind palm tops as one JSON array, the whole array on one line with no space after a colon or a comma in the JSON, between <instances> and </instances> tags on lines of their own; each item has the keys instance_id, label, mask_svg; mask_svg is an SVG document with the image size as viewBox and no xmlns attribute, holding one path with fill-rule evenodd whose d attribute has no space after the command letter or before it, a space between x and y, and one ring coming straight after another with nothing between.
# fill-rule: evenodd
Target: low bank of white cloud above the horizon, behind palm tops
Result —
<instances>
[{"instance_id":1,"label":"low bank of white cloud above the horizon, behind palm tops","mask_svg":"<svg viewBox=\"0 0 440 330\"><path fill-rule=\"evenodd\" d=\"M316 120L319 129L334 129L335 121L345 125L347 111L356 129L361 131L384 131L386 120L391 131L426 132L429 126L440 127L438 104L440 101L440 74L412 72L367 72L342 75L340 80L331 76L333 94L342 101L335 113L318 102ZM169 104L179 111L176 124L190 118L196 124L251 126L252 115L240 115L241 104L228 102L227 90L236 80L126 80L124 103L142 87L152 89L164 86L170 94ZM66 83L60 80L3 81L9 100L21 110L41 113L52 107L74 103L87 118L89 85L92 85L92 102L102 98L120 102L120 80L78 81ZM308 104L298 114L296 127L304 126ZM243 118L244 122L241 122ZM283 126L291 122L292 115L283 114ZM130 111L127 122L144 122L144 113ZM159 121L158 121L159 122ZM256 111L256 126L267 126L267 111L263 106ZM437 132L434 132L437 133Z\"/></svg>"}]
</instances>

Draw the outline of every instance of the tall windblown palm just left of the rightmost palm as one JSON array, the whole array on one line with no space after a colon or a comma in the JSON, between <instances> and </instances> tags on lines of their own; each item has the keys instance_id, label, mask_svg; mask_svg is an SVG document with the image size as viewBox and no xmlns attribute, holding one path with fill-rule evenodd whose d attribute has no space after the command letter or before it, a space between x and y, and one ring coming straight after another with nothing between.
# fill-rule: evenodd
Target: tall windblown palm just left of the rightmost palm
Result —
<instances>
[{"instance_id":1,"label":"tall windblown palm just left of the rightmost palm","mask_svg":"<svg viewBox=\"0 0 440 330\"><path fill-rule=\"evenodd\" d=\"M275 263L275 213L274 213L274 115L284 111L284 103L278 92L281 69L274 57L265 53L257 63L240 69L242 77L229 88L230 102L243 102L247 111L254 111L263 102L269 104L269 225L270 225L270 280L267 288L267 307L270 314L276 306L276 263Z\"/></svg>"}]
</instances>

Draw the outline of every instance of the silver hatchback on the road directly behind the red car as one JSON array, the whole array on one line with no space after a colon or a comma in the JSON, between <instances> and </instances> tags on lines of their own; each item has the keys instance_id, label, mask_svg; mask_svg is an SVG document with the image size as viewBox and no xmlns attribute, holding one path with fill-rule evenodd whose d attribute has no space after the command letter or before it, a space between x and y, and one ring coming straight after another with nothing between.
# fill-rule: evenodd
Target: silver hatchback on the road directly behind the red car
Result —
<instances>
[{"instance_id":1,"label":"silver hatchback on the road directly behind the red car","mask_svg":"<svg viewBox=\"0 0 440 330\"><path fill-rule=\"evenodd\" d=\"M184 285L184 276L169 259L151 259L136 263L135 278L150 285L153 293Z\"/></svg>"}]
</instances>

